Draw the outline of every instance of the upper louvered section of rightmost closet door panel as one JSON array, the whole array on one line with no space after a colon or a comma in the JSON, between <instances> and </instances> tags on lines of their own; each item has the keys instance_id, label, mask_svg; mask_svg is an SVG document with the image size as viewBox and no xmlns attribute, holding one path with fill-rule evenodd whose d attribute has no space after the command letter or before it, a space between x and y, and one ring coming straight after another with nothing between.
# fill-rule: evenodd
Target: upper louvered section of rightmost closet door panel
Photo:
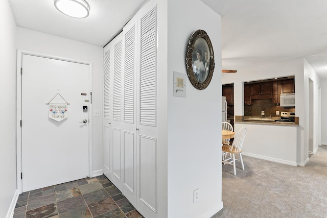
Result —
<instances>
[{"instance_id":1,"label":"upper louvered section of rightmost closet door panel","mask_svg":"<svg viewBox=\"0 0 327 218\"><path fill-rule=\"evenodd\" d=\"M141 18L140 124L156 125L156 8Z\"/></svg>"}]
</instances>

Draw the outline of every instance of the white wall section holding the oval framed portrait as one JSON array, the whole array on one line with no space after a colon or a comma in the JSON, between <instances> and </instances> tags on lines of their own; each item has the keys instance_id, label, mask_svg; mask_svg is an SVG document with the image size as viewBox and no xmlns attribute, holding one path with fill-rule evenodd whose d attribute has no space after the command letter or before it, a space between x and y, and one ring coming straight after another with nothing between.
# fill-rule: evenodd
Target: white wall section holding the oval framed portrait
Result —
<instances>
[{"instance_id":1,"label":"white wall section holding the oval framed portrait","mask_svg":"<svg viewBox=\"0 0 327 218\"><path fill-rule=\"evenodd\" d=\"M186 75L185 52L196 30L212 41L215 71L198 90ZM173 96L173 71L186 75L186 98ZM221 17L200 0L168 1L168 217L211 217L222 208ZM200 198L193 203L193 191Z\"/></svg>"}]
</instances>

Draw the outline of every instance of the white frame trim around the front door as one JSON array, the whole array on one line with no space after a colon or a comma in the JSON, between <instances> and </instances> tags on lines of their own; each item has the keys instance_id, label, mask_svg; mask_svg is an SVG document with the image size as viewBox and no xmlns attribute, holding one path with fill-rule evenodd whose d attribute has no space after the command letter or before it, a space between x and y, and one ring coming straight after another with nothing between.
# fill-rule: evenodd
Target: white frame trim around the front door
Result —
<instances>
[{"instance_id":1,"label":"white frame trim around the front door","mask_svg":"<svg viewBox=\"0 0 327 218\"><path fill-rule=\"evenodd\" d=\"M20 179L20 174L22 171L22 151L21 151L21 127L20 127L20 120L21 120L21 74L20 68L22 65L22 55L32 55L42 58L51 58L61 61L69 61L74 63L86 64L88 65L88 85L89 90L88 92L92 92L92 63L88 61L76 60L71 58L64 58L59 56L52 56L48 54L40 54L30 51L23 51L17 50L17 76L16 76L16 162L17 162L17 190L22 193L22 180ZM24 71L23 71L24 73ZM90 96L90 98L92 98ZM92 101L89 104L89 112L88 112L88 176L92 177ZM24 124L23 124L24 125Z\"/></svg>"}]
</instances>

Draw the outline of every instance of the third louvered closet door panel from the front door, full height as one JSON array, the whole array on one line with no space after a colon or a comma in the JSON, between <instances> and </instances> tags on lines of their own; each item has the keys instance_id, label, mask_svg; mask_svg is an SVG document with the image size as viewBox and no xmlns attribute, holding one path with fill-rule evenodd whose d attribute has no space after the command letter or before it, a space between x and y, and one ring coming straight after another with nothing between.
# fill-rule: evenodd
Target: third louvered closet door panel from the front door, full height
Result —
<instances>
[{"instance_id":1,"label":"third louvered closet door panel from the front door, full height","mask_svg":"<svg viewBox=\"0 0 327 218\"><path fill-rule=\"evenodd\" d=\"M136 206L136 21L134 17L123 29L123 195Z\"/></svg>"}]
</instances>

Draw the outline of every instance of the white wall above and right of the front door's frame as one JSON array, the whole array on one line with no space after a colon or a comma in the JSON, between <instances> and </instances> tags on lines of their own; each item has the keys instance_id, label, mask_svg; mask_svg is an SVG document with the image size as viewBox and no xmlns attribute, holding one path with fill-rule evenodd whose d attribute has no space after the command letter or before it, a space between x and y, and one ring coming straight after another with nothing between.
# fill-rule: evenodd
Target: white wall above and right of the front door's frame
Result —
<instances>
[{"instance_id":1,"label":"white wall above and right of the front door's frame","mask_svg":"<svg viewBox=\"0 0 327 218\"><path fill-rule=\"evenodd\" d=\"M103 108L102 47L17 28L17 49L92 63L92 109ZM102 174L102 113L92 117L92 171Z\"/></svg>"}]
</instances>

